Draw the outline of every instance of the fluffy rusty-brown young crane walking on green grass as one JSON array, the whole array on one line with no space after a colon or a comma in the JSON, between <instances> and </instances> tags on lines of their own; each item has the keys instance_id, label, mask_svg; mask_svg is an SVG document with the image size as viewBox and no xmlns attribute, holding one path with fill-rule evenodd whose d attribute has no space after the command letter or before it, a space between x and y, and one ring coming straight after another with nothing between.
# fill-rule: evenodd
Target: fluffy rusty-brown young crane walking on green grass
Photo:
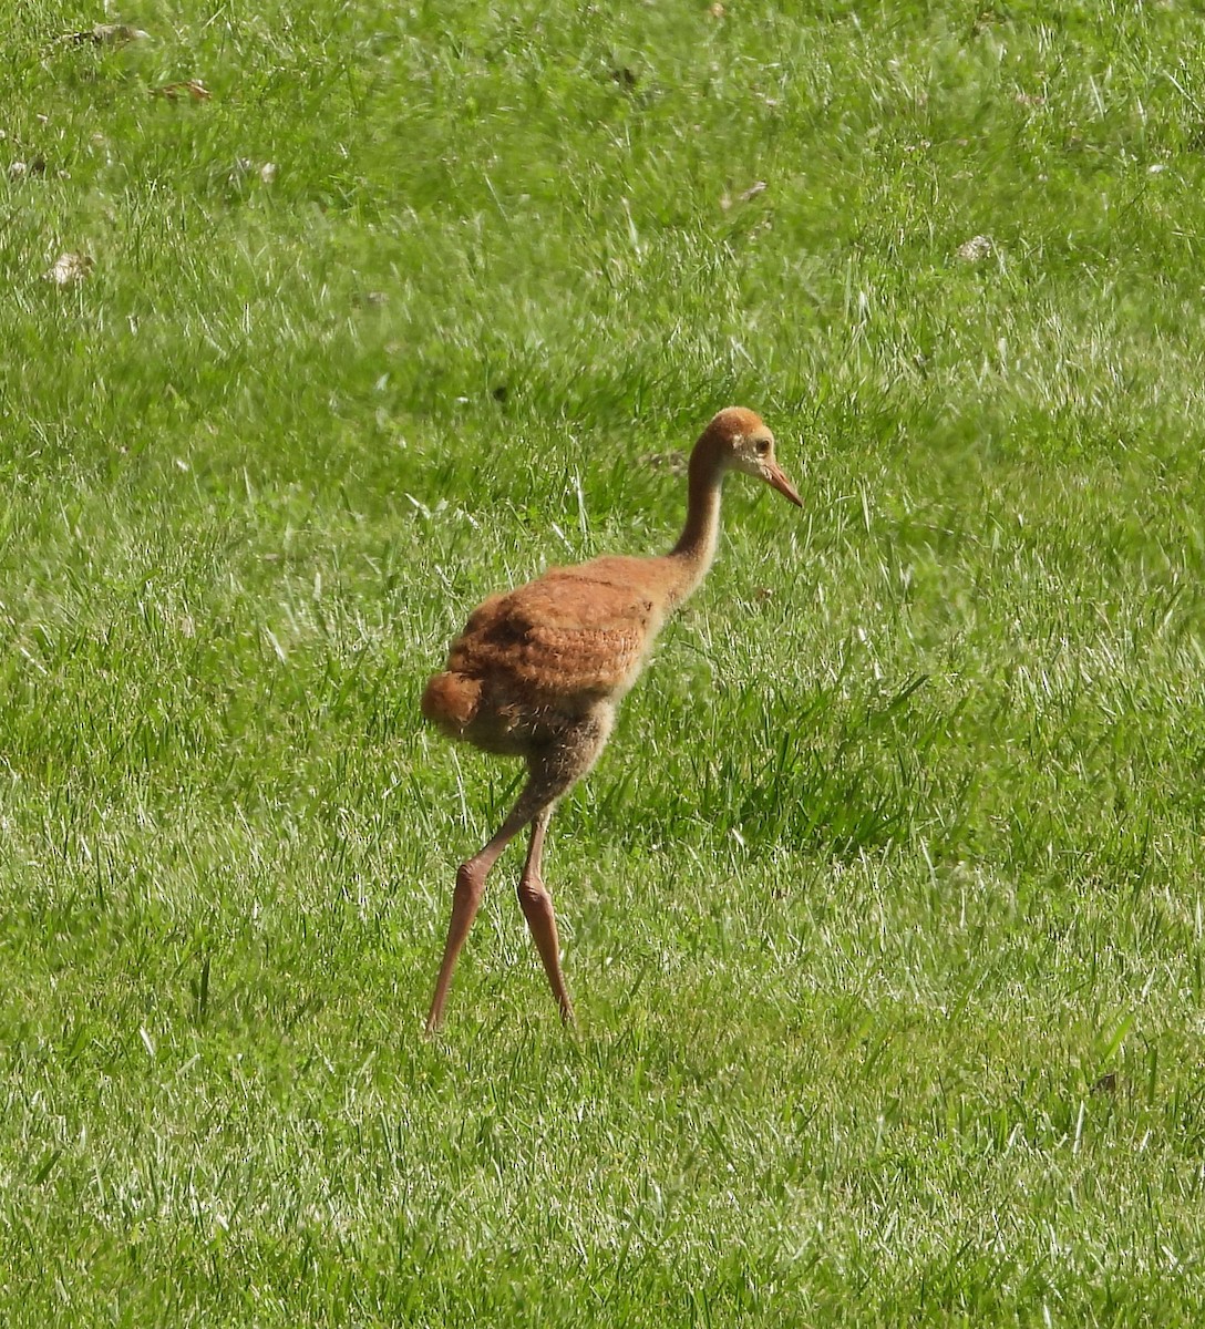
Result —
<instances>
[{"instance_id":1,"label":"fluffy rusty-brown young crane walking on green grass","mask_svg":"<svg viewBox=\"0 0 1205 1329\"><path fill-rule=\"evenodd\" d=\"M668 554L550 567L526 586L492 595L452 643L446 670L426 684L422 714L445 734L527 763L527 781L510 816L456 874L428 1033L442 1023L452 970L485 878L526 825L531 840L519 904L561 1017L573 1021L553 901L539 873L543 836L557 800L602 752L615 708L666 618L707 575L720 530L720 488L729 470L757 476L802 506L775 460L773 435L752 411L729 407L708 424L691 453L686 528Z\"/></svg>"}]
</instances>

